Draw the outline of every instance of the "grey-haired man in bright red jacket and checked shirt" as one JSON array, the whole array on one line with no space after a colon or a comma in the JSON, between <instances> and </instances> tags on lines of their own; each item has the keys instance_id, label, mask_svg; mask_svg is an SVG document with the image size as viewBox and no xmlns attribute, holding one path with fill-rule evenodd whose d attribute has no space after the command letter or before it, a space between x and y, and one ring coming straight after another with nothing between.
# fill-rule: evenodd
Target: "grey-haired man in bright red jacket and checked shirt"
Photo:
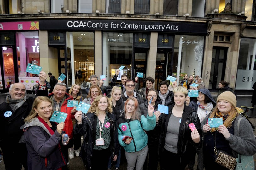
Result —
<instances>
[{"instance_id":1,"label":"grey-haired man in bright red jacket and checked shirt","mask_svg":"<svg viewBox=\"0 0 256 170\"><path fill-rule=\"evenodd\" d=\"M53 111L60 111L67 113L67 118L65 120L65 126L63 128L64 134L62 134L62 137L65 134L68 134L68 137L70 141L68 142L68 145L62 146L63 147L63 152L64 156L68 162L68 148L73 146L73 125L72 125L72 118L74 119L74 113L76 112L75 108L73 107L67 107L67 101L68 100L73 100L73 97L70 96L68 93L66 93L66 84L63 82L58 82L53 89L53 93L46 95L50 98L52 101L52 108ZM45 95L40 95L38 96L45 96Z\"/></svg>"}]
</instances>

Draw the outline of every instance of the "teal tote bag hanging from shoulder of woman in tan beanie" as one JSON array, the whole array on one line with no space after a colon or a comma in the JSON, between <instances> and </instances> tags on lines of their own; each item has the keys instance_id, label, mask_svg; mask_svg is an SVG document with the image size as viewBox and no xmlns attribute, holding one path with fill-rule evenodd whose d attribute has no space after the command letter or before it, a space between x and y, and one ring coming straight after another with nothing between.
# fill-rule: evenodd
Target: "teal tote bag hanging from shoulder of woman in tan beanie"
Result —
<instances>
[{"instance_id":1,"label":"teal tote bag hanging from shoulder of woman in tan beanie","mask_svg":"<svg viewBox=\"0 0 256 170\"><path fill-rule=\"evenodd\" d=\"M240 118L238 120L237 123L237 129L239 131L239 123L241 121L242 118ZM241 154L237 154L238 157L236 158L236 170L253 170L254 167L254 160L253 160L253 155L251 156L245 156L245 155L241 155Z\"/></svg>"}]
</instances>

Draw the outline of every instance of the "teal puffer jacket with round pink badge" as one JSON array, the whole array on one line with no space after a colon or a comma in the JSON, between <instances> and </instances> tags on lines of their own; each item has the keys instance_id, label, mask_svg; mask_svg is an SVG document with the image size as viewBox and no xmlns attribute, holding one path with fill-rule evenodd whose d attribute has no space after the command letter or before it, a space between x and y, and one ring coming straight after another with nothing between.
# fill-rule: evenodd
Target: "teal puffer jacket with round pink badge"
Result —
<instances>
[{"instance_id":1,"label":"teal puffer jacket with round pink badge","mask_svg":"<svg viewBox=\"0 0 256 170\"><path fill-rule=\"evenodd\" d=\"M149 131L153 130L156 125L156 117L148 116L147 118L142 115L141 121L139 120L127 120L124 117L124 113L118 119L118 141L121 146L124 147L126 152L137 152L142 150L148 144L148 136L144 130ZM123 136L130 136L133 138L129 145L125 144L122 141Z\"/></svg>"}]
</instances>

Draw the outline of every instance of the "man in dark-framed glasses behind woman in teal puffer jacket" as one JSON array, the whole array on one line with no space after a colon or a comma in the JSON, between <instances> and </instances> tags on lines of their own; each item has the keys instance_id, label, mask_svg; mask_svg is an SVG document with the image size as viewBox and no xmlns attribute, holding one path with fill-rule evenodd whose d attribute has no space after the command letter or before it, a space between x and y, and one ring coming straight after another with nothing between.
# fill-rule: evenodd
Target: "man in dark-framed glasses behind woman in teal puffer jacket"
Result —
<instances>
[{"instance_id":1,"label":"man in dark-framed glasses behind woman in teal puffer jacket","mask_svg":"<svg viewBox=\"0 0 256 170\"><path fill-rule=\"evenodd\" d=\"M125 102L129 97L135 97L139 104L143 103L142 96L138 94L135 90L134 82L130 79L126 80L125 82L125 92L124 94L121 94L121 97L123 98L123 101Z\"/></svg>"}]
</instances>

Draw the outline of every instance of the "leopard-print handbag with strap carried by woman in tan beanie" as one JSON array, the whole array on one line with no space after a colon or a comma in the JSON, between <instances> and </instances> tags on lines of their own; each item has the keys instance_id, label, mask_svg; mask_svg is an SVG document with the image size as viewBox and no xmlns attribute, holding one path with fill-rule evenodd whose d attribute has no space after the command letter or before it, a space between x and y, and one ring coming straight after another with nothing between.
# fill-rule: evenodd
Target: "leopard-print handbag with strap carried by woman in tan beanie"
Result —
<instances>
[{"instance_id":1,"label":"leopard-print handbag with strap carried by woman in tan beanie","mask_svg":"<svg viewBox=\"0 0 256 170\"><path fill-rule=\"evenodd\" d=\"M236 166L236 158L234 158L233 156L231 156L229 153L227 153L225 151L222 151L222 150L217 151L217 149L216 149L216 134L214 134L214 136L215 136L214 152L216 154L214 156L215 162L227 169L233 170Z\"/></svg>"}]
</instances>

